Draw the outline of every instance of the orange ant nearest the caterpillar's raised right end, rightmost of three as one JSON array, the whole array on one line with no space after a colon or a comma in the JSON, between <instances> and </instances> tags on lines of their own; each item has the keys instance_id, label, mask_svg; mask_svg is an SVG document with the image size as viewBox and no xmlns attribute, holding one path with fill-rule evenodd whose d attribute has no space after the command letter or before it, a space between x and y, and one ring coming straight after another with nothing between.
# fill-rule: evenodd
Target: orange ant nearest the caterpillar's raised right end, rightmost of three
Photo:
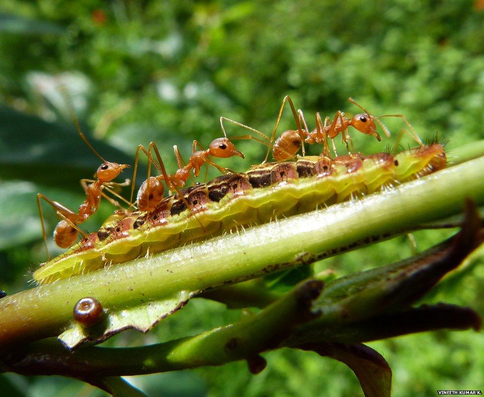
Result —
<instances>
[{"instance_id":1,"label":"orange ant nearest the caterpillar's raised right end, rightmost of three","mask_svg":"<svg viewBox=\"0 0 484 397\"><path fill-rule=\"evenodd\" d=\"M381 129L385 132L385 135L387 137L390 137L390 131L379 120L382 117L399 117L399 118L403 119L403 121L405 122L405 124L407 124L407 126L409 127L411 132L408 132L407 130L405 130L405 131L407 133L409 133L409 135L414 140L416 140L420 145L423 144L419 135L414 130L412 125L407 121L407 119L405 118L404 115L401 115L401 114L393 115L392 114L392 115L381 115L381 116L374 117L365 108L363 108L363 106L361 106L358 102L356 102L353 98L351 98L351 97L348 98L348 101L353 103L354 105L358 106L360 109L363 110L364 113L359 113L359 114L353 116L350 119L350 118L346 117L344 112L341 112L341 111L338 110L336 112L333 120L331 121L331 123L330 123L330 118L326 117L324 119L324 124L321 123L321 118L320 118L319 113L318 113L316 115L316 129L314 129L311 132L309 132L309 129L307 128L307 124L306 124L306 121L304 119L304 115L303 115L302 110L299 109L296 112L296 109L293 105L293 101L291 100L291 98L289 96L285 96L283 101L282 101L281 107L279 109L279 114L278 114L278 117L277 117L276 125L274 126L274 130L272 131L270 138L269 138L269 136L267 136L263 132L257 131L255 129L251 128L251 127L245 126L241 123L238 123L234 120L227 119L225 117L220 118L220 123L222 125L222 130L224 131L224 133L225 133L225 129L223 127L222 121L226 120L230 123L233 123L237 126L243 127L243 128L245 128L249 131L255 132L255 133L261 135L262 137L264 137L266 139L266 141L268 141L269 143L266 143L265 141L263 141L263 140L261 140L257 137L254 137L252 135L246 135L247 138L255 139L255 140L262 142L262 143L264 143L265 145L268 146L267 153L266 153L266 156L264 158L263 163L267 161L267 159L269 157L269 152L271 151L271 149L272 149L272 156L274 157L274 159L276 161L284 161L284 160L288 160L288 159L294 157L296 155L296 153L299 151L299 148L301 146L303 146L303 155L304 155L304 152L305 152L304 142L308 143L308 144L313 144L313 143L324 144L325 145L324 154L329 155L329 152L326 150L327 149L327 147L326 147L327 137L329 137L331 139L331 142L333 144L334 154L335 154L335 156L337 156L334 138L339 133L341 133L341 135L342 135L343 142L346 145L346 149L348 151L348 154L351 154L350 147L349 147L349 144L348 144L348 142L351 140L351 137L349 136L349 134L347 132L348 127L351 126L351 127L355 128L356 130L358 130L359 132L362 132L362 133L368 134L368 135L373 135L373 136L376 137L376 139L378 139L378 141L380 141L381 137L378 134L378 132L376 132L375 122L378 123L378 125L381 127ZM284 110L284 106L286 105L286 102L289 102L289 106L291 107L291 111L293 113L294 120L296 121L296 125L297 125L298 129L297 130L287 130L287 131L283 132L277 139L275 139L277 128L279 126L279 122L281 120L282 112ZM318 119L319 119L319 121L318 121ZM301 122L303 122L304 129L301 126ZM274 139L275 139L275 141L274 141Z\"/></svg>"}]
</instances>

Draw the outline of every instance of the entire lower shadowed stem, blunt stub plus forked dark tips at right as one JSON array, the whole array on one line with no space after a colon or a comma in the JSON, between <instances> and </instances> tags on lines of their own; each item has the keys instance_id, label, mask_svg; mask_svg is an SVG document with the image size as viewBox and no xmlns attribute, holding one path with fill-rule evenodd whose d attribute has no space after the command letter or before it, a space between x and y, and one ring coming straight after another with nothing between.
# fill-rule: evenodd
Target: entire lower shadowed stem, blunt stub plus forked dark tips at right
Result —
<instances>
[{"instance_id":1,"label":"entire lower shadowed stem, blunt stub plus forked dark tips at right","mask_svg":"<svg viewBox=\"0 0 484 397\"><path fill-rule=\"evenodd\" d=\"M411 305L483 242L482 232L475 207L469 202L461 231L419 256L356 272L327 285L322 273L299 283L259 313L229 326L136 348L84 345L72 352L59 341L45 339L2 355L1 369L25 375L62 374L105 388L101 376L220 365L240 359L246 359L251 371L257 373L265 365L258 354L282 346L305 348L309 343L319 346L323 354L328 348L333 350L331 346L345 350L334 345L335 341L354 345L416 331L477 330L481 319L471 309L443 304L414 309ZM350 356L343 361L357 365Z\"/></svg>"}]
</instances>

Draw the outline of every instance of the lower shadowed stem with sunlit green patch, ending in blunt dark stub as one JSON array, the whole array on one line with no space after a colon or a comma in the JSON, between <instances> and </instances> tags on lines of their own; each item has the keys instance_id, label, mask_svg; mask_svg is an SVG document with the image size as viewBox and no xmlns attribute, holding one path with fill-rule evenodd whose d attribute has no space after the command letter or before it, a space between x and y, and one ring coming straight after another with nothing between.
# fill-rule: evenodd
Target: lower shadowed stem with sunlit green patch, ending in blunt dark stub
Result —
<instances>
[{"instance_id":1,"label":"lower shadowed stem with sunlit green patch, ending in blunt dark stub","mask_svg":"<svg viewBox=\"0 0 484 397\"><path fill-rule=\"evenodd\" d=\"M309 304L322 287L321 281L305 281L258 315L246 316L230 326L166 343L125 349L81 346L69 352L58 340L51 338L20 348L14 354L15 357L30 355L24 374L35 373L38 367L32 366L32 363L39 362L41 366L44 363L44 374L67 375L65 371L69 371L69 376L75 374L79 378L89 373L116 376L120 373L130 375L221 365L277 347L295 325L313 317ZM13 361L16 361L15 358ZM17 362L15 366L22 373L22 363Z\"/></svg>"}]
</instances>

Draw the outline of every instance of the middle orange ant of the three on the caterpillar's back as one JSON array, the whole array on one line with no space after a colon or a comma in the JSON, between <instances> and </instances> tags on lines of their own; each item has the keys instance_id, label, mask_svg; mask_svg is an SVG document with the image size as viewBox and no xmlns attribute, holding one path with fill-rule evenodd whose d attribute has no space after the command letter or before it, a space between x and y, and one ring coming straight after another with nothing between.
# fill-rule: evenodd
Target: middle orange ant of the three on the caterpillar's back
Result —
<instances>
[{"instance_id":1,"label":"middle orange ant of the three on the caterpillar's back","mask_svg":"<svg viewBox=\"0 0 484 397\"><path fill-rule=\"evenodd\" d=\"M225 135L225 133L224 133ZM175 151L175 157L178 163L178 170L175 174L170 175L166 172L165 165L163 164L163 160L161 159L160 152L155 144L155 142L150 142L148 146L148 150L143 145L138 145L136 149L136 157L134 163L134 170L133 170L133 185L131 188L131 199L133 199L133 192L134 192L134 181L136 180L136 171L138 167L138 158L139 158L139 151L142 150L148 156L148 178L144 181L141 187L138 190L138 194L136 196L136 201L138 203L138 208L141 211L152 211L155 207L160 203L163 199L165 188L163 186L162 181L165 181L169 190L175 190L180 198L183 200L183 196L180 193L180 188L182 188L188 178L190 177L190 171L193 170L193 174L195 177L200 175L200 168L204 165L211 165L212 167L217 168L220 172L225 173L230 171L228 168L221 167L214 161L210 159L212 157L218 158L228 158L232 156L239 156L244 158L243 153L237 150L234 144L227 138L225 135L223 138L217 138L212 140L207 150L197 150L197 147L202 148L200 143L197 140L193 141L192 146L192 154L188 159L186 165L184 164L183 158L178 150L178 146L175 145L173 147ZM155 151L155 155L158 159L158 164L153 161L151 150ZM151 173L151 162L158 169L161 175L157 177L150 176ZM185 202L185 204L187 204ZM188 207L188 205L187 205Z\"/></svg>"}]
</instances>

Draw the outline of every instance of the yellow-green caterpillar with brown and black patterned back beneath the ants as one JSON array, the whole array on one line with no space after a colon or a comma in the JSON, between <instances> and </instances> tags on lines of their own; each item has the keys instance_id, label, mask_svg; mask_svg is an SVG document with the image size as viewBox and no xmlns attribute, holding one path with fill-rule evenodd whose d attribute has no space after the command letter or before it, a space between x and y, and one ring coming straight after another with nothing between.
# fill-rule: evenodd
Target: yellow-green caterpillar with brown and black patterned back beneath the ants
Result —
<instances>
[{"instance_id":1,"label":"yellow-green caterpillar with brown and black patterned back beneath the ants","mask_svg":"<svg viewBox=\"0 0 484 397\"><path fill-rule=\"evenodd\" d=\"M438 143L396 155L305 156L256 165L243 173L183 188L183 197L167 197L153 211L112 215L97 232L42 264L33 276L39 283L50 283L241 226L269 222L276 216L296 215L371 194L445 165L446 154Z\"/></svg>"}]
</instances>

